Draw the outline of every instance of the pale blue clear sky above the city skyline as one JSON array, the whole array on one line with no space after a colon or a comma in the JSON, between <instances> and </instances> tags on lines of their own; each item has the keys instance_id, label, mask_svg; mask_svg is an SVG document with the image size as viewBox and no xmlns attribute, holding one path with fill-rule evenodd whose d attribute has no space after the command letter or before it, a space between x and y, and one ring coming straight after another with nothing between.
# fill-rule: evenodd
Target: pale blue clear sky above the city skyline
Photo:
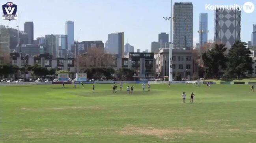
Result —
<instances>
[{"instance_id":1,"label":"pale blue clear sky above the city skyline","mask_svg":"<svg viewBox=\"0 0 256 143\"><path fill-rule=\"evenodd\" d=\"M2 4L6 2L1 1ZM158 33L170 31L170 23L163 16L170 16L170 0L13 0L18 5L19 20L11 20L9 26L19 22L34 22L34 39L46 34L65 34L65 21L75 22L75 39L79 41L107 40L108 33L124 32L135 49L151 49L151 42L158 40ZM206 10L206 4L243 5L252 2L253 13L241 12L241 40L250 40L252 25L256 24L256 0L173 0L193 4L193 45L198 43L199 13L208 13L208 40L214 36L213 11ZM2 13L1 13L2 14ZM1 15L2 17L2 15ZM7 20L1 23L6 25Z\"/></svg>"}]
</instances>

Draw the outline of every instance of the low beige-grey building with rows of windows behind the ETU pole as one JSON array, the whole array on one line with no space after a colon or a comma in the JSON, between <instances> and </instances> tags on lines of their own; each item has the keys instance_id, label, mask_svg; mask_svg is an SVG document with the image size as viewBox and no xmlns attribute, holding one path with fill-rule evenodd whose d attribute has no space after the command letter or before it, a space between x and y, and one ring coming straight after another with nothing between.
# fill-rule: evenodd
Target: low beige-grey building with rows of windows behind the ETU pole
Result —
<instances>
[{"instance_id":1,"label":"low beige-grey building with rows of windows behind the ETU pole","mask_svg":"<svg viewBox=\"0 0 256 143\"><path fill-rule=\"evenodd\" d=\"M158 77L169 76L169 49L159 49L155 54L155 74ZM196 69L196 61L192 56L192 50L172 50L172 74L173 77L179 72L182 78L192 76Z\"/></svg>"}]
</instances>

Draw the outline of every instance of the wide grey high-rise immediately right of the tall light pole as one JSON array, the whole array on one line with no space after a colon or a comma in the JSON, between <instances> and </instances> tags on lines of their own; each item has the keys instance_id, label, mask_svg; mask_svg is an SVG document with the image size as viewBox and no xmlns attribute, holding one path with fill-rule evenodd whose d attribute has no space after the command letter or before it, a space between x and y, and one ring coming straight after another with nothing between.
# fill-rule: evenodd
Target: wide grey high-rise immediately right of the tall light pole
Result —
<instances>
[{"instance_id":1,"label":"wide grey high-rise immediately right of the tall light pole","mask_svg":"<svg viewBox=\"0 0 256 143\"><path fill-rule=\"evenodd\" d=\"M193 45L192 3L175 2L173 17L173 48L190 49Z\"/></svg>"}]
</instances>

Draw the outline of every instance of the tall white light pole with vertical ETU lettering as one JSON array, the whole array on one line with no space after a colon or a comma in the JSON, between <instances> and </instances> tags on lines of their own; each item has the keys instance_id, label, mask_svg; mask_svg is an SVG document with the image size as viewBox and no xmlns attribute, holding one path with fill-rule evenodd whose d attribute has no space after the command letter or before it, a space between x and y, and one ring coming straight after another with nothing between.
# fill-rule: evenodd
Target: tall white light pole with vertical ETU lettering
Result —
<instances>
[{"instance_id":1,"label":"tall white light pole with vertical ETU lettering","mask_svg":"<svg viewBox=\"0 0 256 143\"><path fill-rule=\"evenodd\" d=\"M170 21L170 48L169 48L169 81L172 81L172 0L171 0L171 17L163 17Z\"/></svg>"}]
</instances>

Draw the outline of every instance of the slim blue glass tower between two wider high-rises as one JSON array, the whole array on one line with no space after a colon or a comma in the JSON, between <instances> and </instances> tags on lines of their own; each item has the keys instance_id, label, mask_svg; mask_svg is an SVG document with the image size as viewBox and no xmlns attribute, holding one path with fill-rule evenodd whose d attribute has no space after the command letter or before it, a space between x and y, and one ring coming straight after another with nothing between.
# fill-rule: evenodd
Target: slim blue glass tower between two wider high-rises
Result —
<instances>
[{"instance_id":1,"label":"slim blue glass tower between two wider high-rises","mask_svg":"<svg viewBox=\"0 0 256 143\"><path fill-rule=\"evenodd\" d=\"M198 50L208 41L208 13L199 14L199 45Z\"/></svg>"}]
</instances>

